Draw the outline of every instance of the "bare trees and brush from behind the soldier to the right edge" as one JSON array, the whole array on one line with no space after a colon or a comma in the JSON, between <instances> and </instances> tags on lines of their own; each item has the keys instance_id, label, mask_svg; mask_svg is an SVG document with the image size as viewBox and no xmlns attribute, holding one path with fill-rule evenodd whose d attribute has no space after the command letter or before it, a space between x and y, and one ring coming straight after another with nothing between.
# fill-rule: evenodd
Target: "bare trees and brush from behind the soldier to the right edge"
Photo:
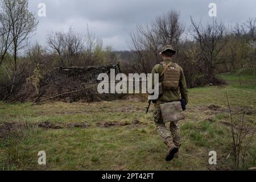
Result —
<instances>
[{"instance_id":1,"label":"bare trees and brush from behind the soldier to the right edge","mask_svg":"<svg viewBox=\"0 0 256 182\"><path fill-rule=\"evenodd\" d=\"M214 19L202 24L192 17L189 27L180 22L180 13L172 10L146 26L138 26L131 33L131 67L150 72L162 61L159 49L171 44L177 50L174 61L183 67L189 87L218 83L217 75L226 72L256 76L256 18L235 26Z\"/></svg>"}]
</instances>

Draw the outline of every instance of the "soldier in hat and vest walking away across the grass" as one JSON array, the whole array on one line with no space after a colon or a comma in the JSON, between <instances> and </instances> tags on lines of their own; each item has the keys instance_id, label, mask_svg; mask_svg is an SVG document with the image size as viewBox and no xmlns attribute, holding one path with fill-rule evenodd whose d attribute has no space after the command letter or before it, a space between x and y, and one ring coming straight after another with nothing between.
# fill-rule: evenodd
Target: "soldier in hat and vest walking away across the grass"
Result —
<instances>
[{"instance_id":1,"label":"soldier in hat and vest walking away across the grass","mask_svg":"<svg viewBox=\"0 0 256 182\"><path fill-rule=\"evenodd\" d=\"M163 86L163 94L159 96L158 100L154 101L154 121L160 137L168 147L166 161L178 157L179 148L181 146L180 129L176 121L170 123L171 132L168 131L163 122L160 105L167 102L180 101L181 99L185 101L186 105L188 104L187 82L183 69L171 61L175 53L176 51L172 46L165 46L163 51L160 52L160 55L163 56L163 62L155 65L152 70L152 74L159 74L159 82L162 83ZM155 85L154 80L152 84Z\"/></svg>"}]
</instances>

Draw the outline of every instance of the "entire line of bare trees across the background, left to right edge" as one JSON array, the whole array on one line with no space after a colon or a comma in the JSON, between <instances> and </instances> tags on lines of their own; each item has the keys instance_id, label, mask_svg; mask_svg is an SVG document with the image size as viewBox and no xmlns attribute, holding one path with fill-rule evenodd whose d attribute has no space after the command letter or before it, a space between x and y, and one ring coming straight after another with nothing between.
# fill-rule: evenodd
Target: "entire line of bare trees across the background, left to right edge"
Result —
<instances>
[{"instance_id":1,"label":"entire line of bare trees across the background, left to right edge","mask_svg":"<svg viewBox=\"0 0 256 182\"><path fill-rule=\"evenodd\" d=\"M87 67L121 62L124 73L150 73L162 61L160 49L175 47L174 61L185 72L188 86L218 83L217 75L240 72L256 75L256 19L226 26L213 20L203 24L191 17L191 24L181 23L180 13L168 11L151 23L138 25L130 33L128 51L113 51L89 30L80 34L49 32L46 46L28 46L38 19L28 10L28 0L1 0L0 7L0 99L18 92L30 78L40 82L56 67ZM21 53L22 52L22 53Z\"/></svg>"}]
</instances>

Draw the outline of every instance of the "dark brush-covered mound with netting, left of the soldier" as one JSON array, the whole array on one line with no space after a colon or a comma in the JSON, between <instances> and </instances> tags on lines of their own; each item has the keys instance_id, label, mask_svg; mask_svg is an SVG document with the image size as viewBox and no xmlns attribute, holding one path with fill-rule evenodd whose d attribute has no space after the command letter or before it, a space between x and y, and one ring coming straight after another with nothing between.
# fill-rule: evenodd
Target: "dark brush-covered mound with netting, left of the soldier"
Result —
<instances>
[{"instance_id":1,"label":"dark brush-covered mound with netting, left of the soldier","mask_svg":"<svg viewBox=\"0 0 256 182\"><path fill-rule=\"evenodd\" d=\"M122 94L99 94L97 77L100 73L110 73L110 69L119 72L118 65L101 65L99 67L56 68L43 76L39 83L39 93L31 82L25 82L19 92L10 101L39 102L47 98L64 102L111 101L123 97ZM94 84L93 84L94 83ZM86 89L86 90L85 90ZM75 93L69 93L79 91ZM69 93L69 94L64 94ZM59 94L61 96L55 97Z\"/></svg>"}]
</instances>

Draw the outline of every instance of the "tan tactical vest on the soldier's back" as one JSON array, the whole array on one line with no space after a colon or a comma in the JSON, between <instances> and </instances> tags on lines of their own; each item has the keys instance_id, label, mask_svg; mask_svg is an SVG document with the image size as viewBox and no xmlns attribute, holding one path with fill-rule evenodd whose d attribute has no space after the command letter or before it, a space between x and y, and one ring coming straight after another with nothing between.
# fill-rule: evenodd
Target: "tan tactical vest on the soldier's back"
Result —
<instances>
[{"instance_id":1,"label":"tan tactical vest on the soldier's back","mask_svg":"<svg viewBox=\"0 0 256 182\"><path fill-rule=\"evenodd\" d=\"M164 69L160 77L162 78L163 90L179 90L180 67L175 63L160 63Z\"/></svg>"}]
</instances>

